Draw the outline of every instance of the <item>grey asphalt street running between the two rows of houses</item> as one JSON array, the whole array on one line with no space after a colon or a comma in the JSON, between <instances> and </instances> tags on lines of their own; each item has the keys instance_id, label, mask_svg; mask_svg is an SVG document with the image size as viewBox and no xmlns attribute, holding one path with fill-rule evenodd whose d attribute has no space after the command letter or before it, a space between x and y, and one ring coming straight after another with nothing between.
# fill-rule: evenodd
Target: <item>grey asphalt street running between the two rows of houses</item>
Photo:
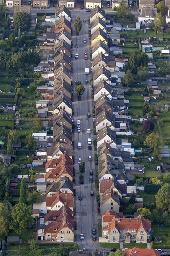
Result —
<instances>
[{"instance_id":1,"label":"grey asphalt street running between the two rows of houses","mask_svg":"<svg viewBox=\"0 0 170 256\"><path fill-rule=\"evenodd\" d=\"M94 146L93 146L93 121L92 121L92 111L94 109L94 103L91 99L92 89L90 86L91 75L85 74L85 68L90 70L90 48L89 48L89 37L88 30L88 18L90 17L89 13L82 12L80 15L83 27L79 33L79 36L76 36L74 21L78 16L77 11L72 11L72 28L73 28L73 82L75 88L75 81L82 81L83 86L85 87L85 92L81 96L81 101L78 102L76 92L74 92L74 102L72 107L74 108L74 121L77 124L77 120L80 119L80 128L81 132L77 132L75 128L74 133L74 155L75 155L75 207L76 207L76 242L78 243L79 248L86 248L88 250L95 249L95 243L97 241L92 241L92 228L98 229L98 213L97 213L97 203L96 196L91 197L90 191L95 191L95 173L93 174L93 182L89 182L89 171L90 169L95 170L94 166ZM86 22L83 22L83 19L86 19ZM86 39L87 43L84 44L83 40ZM75 44L78 44L78 48L75 48ZM84 53L88 54L88 60L84 60ZM78 53L78 59L75 59L75 53ZM85 79L88 79L89 83L85 84ZM87 118L87 113L91 113L91 117ZM87 129L91 129L91 134L87 134ZM92 140L92 150L88 150L88 138ZM77 149L77 143L81 142L81 149ZM88 156L92 156L92 162L88 161ZM84 173L84 184L80 185L79 182L79 164L78 158L81 158L85 162L85 173ZM83 200L79 201L78 196L82 195ZM96 195L96 192L95 192ZM84 240L80 240L80 234L84 234ZM98 236L98 231L97 231Z\"/></svg>"}]
</instances>

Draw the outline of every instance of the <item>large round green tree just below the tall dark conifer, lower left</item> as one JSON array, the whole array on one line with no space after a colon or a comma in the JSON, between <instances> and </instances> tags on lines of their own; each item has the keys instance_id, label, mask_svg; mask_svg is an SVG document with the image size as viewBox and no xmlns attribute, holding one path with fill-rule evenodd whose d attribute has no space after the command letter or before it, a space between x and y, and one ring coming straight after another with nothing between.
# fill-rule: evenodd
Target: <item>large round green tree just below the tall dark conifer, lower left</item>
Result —
<instances>
[{"instance_id":1,"label":"large round green tree just below the tall dark conifer, lower left","mask_svg":"<svg viewBox=\"0 0 170 256\"><path fill-rule=\"evenodd\" d=\"M16 204L11 213L10 227L17 234L21 234L22 229L29 227L32 223L32 206L25 203Z\"/></svg>"}]
</instances>

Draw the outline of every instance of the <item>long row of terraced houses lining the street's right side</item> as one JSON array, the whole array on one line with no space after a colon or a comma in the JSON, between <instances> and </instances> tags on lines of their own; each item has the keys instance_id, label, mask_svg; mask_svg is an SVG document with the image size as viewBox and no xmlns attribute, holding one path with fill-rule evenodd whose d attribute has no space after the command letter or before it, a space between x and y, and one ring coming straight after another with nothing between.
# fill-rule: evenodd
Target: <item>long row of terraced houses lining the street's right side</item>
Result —
<instances>
[{"instance_id":1,"label":"long row of terraced houses lining the street's right side","mask_svg":"<svg viewBox=\"0 0 170 256\"><path fill-rule=\"evenodd\" d=\"M143 216L123 218L119 212L120 198L136 194L130 186L133 175L128 170L144 173L144 165L134 162L135 151L128 139L118 135L131 135L129 131L129 101L124 93L128 88L120 86L125 73L122 69L128 59L116 58L121 52L120 34L111 26L105 11L96 7L91 12L92 70L94 82L95 118L97 132L98 178L102 238L100 242L147 243L151 222ZM97 27L97 29L94 29ZM138 202L139 200L139 202ZM143 207L142 198L135 207Z\"/></svg>"}]
</instances>

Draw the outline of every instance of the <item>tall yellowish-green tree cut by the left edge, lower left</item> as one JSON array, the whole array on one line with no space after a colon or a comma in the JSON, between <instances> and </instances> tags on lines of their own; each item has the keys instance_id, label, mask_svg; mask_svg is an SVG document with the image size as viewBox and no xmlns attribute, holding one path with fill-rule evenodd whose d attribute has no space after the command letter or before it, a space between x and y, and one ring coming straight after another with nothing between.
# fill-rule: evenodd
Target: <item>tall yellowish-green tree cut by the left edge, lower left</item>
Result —
<instances>
[{"instance_id":1,"label":"tall yellowish-green tree cut by the left edge, lower left","mask_svg":"<svg viewBox=\"0 0 170 256\"><path fill-rule=\"evenodd\" d=\"M0 237L7 236L11 219L11 204L9 202L0 203Z\"/></svg>"}]
</instances>

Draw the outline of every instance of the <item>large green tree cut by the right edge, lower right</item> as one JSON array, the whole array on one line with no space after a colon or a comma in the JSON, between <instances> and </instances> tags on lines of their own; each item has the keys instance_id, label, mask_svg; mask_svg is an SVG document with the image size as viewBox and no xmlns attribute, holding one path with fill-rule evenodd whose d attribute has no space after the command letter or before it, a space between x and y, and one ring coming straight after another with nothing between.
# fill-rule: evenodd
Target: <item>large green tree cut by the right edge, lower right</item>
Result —
<instances>
[{"instance_id":1,"label":"large green tree cut by the right edge, lower right","mask_svg":"<svg viewBox=\"0 0 170 256\"><path fill-rule=\"evenodd\" d=\"M156 207L161 213L170 213L170 184L165 183L155 195L155 199Z\"/></svg>"}]
</instances>

